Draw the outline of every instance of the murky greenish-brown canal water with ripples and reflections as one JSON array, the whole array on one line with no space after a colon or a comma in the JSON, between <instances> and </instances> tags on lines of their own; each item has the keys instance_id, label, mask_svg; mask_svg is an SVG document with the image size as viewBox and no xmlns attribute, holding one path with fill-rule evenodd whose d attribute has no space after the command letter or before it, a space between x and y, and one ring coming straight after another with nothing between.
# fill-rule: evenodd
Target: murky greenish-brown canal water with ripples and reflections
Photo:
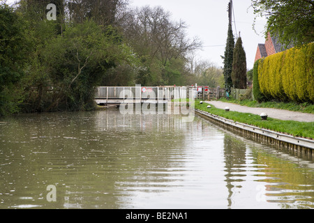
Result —
<instances>
[{"instance_id":1,"label":"murky greenish-brown canal water with ripples and reflections","mask_svg":"<svg viewBox=\"0 0 314 223\"><path fill-rule=\"evenodd\" d=\"M0 208L314 208L314 162L198 116L0 119Z\"/></svg>"}]
</instances>

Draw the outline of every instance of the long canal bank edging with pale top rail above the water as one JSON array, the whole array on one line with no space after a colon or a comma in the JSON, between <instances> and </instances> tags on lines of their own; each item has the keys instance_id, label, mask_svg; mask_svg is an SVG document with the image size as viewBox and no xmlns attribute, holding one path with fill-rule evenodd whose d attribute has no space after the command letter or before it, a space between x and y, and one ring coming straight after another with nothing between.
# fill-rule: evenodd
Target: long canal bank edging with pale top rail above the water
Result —
<instances>
[{"instance_id":1,"label":"long canal bank edging with pale top rail above the water","mask_svg":"<svg viewBox=\"0 0 314 223\"><path fill-rule=\"evenodd\" d=\"M276 146L277 148L287 148L290 151L307 155L308 157L314 157L314 140L293 137L289 134L264 130L253 125L238 123L227 118L210 114L209 112L201 111L199 109L195 109L195 112L203 118L212 121L227 130L241 134L244 137L253 139L254 141L258 141L262 144Z\"/></svg>"}]
</instances>

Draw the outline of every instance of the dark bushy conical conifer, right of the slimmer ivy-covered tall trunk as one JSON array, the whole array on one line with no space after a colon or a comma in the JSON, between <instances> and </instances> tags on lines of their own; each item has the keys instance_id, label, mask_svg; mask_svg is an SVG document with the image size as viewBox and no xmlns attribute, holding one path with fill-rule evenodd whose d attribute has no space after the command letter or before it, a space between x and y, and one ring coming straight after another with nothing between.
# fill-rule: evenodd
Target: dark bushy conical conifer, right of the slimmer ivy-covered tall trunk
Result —
<instances>
[{"instance_id":1,"label":"dark bushy conical conifer, right of the slimmer ivy-covered tall trunk","mask_svg":"<svg viewBox=\"0 0 314 223\"><path fill-rule=\"evenodd\" d=\"M234 47L231 77L234 88L246 89L246 52L241 37L237 39Z\"/></svg>"}]
</instances>

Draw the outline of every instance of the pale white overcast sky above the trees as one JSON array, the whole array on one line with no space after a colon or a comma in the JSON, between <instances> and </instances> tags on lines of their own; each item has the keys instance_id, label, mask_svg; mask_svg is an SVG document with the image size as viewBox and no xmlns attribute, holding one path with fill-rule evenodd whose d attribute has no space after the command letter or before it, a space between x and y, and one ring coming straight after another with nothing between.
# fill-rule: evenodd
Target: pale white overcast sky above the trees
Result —
<instances>
[{"instance_id":1,"label":"pale white overcast sky above the trees","mask_svg":"<svg viewBox=\"0 0 314 223\"><path fill-rule=\"evenodd\" d=\"M217 66L223 66L225 44L227 41L229 0L130 0L130 6L161 6L172 13L175 21L180 19L188 24L190 38L198 36L204 45L202 51L197 52L200 59L208 60ZM248 69L253 68L255 53L258 43L264 43L264 25L266 20L257 20L257 35L252 28L255 15L251 6L251 0L233 0L234 19L232 29L234 36L239 35L246 51L246 63ZM234 24L235 21L235 24ZM212 47L220 45L219 47Z\"/></svg>"}]
</instances>

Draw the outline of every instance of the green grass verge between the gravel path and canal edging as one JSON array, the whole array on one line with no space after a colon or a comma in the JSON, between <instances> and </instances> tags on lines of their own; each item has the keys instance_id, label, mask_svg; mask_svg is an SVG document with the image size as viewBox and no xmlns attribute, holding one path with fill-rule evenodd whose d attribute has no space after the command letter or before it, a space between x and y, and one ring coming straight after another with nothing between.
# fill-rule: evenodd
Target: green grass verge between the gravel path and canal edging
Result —
<instances>
[{"instance_id":1,"label":"green grass verge between the gravel path and canal edging","mask_svg":"<svg viewBox=\"0 0 314 223\"><path fill-rule=\"evenodd\" d=\"M213 105L208 109L209 104L200 104L200 100L195 101L195 109L200 109L204 112L218 115L223 118L231 119L239 123L254 125L259 128L273 130L285 134L293 135L294 137L304 137L308 139L314 138L314 122L303 123L298 121L282 121L275 118L267 118L267 121L262 121L260 116L241 112L225 112L224 109L217 109Z\"/></svg>"}]
</instances>

